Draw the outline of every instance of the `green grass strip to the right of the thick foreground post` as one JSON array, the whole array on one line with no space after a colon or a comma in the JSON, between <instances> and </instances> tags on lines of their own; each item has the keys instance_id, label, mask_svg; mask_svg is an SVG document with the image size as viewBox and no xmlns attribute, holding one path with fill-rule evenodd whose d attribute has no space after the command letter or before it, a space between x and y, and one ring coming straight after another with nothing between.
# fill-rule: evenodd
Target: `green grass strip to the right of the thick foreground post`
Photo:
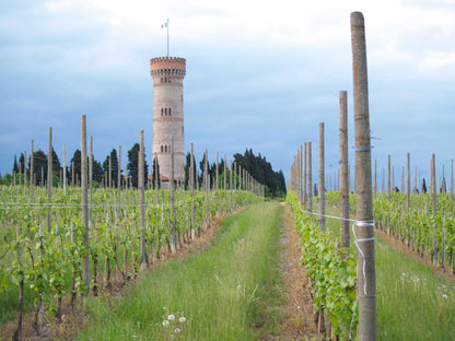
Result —
<instances>
[{"instance_id":1,"label":"green grass strip to the right of the thick foreground post","mask_svg":"<svg viewBox=\"0 0 455 341\"><path fill-rule=\"evenodd\" d=\"M326 214L339 211L327 207ZM339 235L339 220L327 219L326 226ZM390 249L377 235L375 261L377 340L455 340L455 279Z\"/></svg>"}]
</instances>

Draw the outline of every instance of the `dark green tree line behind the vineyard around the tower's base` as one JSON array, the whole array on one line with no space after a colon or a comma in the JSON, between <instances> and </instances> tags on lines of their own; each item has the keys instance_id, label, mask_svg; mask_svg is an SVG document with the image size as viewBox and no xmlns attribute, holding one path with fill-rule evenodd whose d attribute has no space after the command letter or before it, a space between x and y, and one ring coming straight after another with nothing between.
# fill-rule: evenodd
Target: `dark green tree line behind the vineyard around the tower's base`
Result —
<instances>
[{"instance_id":1,"label":"dark green tree line behind the vineyard around the tower's base","mask_svg":"<svg viewBox=\"0 0 455 341\"><path fill-rule=\"evenodd\" d=\"M128 163L126 169L120 169L121 172L121 179L126 179L129 181L130 186L133 188L138 187L138 155L139 155L139 143L135 143L135 145L128 151ZM245 153L242 155L236 153L233 155L234 161L242 169L247 170L255 179L257 179L260 184L266 186L266 197L275 198L275 197L284 197L285 196L285 180L282 170L275 172L271 167L271 164L267 162L266 157L261 156L260 153L256 156L252 149L246 149ZM20 178L21 174L24 173L24 167L26 168L27 176L30 176L30 166L31 166L31 156L27 157L27 162L25 162L25 154L21 153L19 161L16 155L14 155L14 163L12 167L12 173L7 174L3 177L0 175L0 184L9 185L13 181L14 176ZM194 164L197 165L195 156ZM78 149L74 151L69 165L66 166L63 169L60 160L52 149L52 177L54 177L54 185L58 186L59 180L62 178L63 172L66 172L66 177L68 179L68 184L77 186L81 179L81 151ZM224 165L224 158L221 157L220 162L218 163L218 175L221 179L224 173L224 167L229 168L228 165ZM202 174L203 167L206 163L206 155L202 156L202 160L199 162L200 172L196 172L195 175L195 184L199 183L202 184ZM185 164L185 187L189 187L189 164L190 164L190 153L186 155L186 164ZM113 149L103 163L93 160L93 185L95 187L105 184L106 186L118 186L118 154L117 150ZM217 163L208 163L208 173L210 178L215 178L217 173ZM47 155L44 151L38 150L33 152L33 174L34 174L34 185L35 186L44 186L47 180L47 172L48 172L48 160ZM110 174L109 174L110 169ZM228 169L228 172L230 172ZM154 188L156 181L155 177L160 178L160 166L158 165L156 158L153 160L153 165L151 169L151 178L148 177L149 174L149 165L147 161L144 163L144 179L145 184L151 181L151 187ZM30 179L27 180L30 181ZM110 184L109 184L110 181ZM30 184L30 183L28 183Z\"/></svg>"}]
</instances>

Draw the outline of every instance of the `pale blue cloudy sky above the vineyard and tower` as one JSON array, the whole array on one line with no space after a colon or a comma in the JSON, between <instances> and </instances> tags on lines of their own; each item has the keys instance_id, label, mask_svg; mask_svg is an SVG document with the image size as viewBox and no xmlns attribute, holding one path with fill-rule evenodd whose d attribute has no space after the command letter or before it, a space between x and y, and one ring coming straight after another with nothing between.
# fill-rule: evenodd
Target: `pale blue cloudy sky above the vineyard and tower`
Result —
<instances>
[{"instance_id":1,"label":"pale blue cloudy sky above the vineyard and tower","mask_svg":"<svg viewBox=\"0 0 455 341\"><path fill-rule=\"evenodd\" d=\"M353 145L350 13L365 17L373 158L392 154L399 186L406 153L423 176L454 157L453 0L1 0L0 172L14 154L47 153L48 128L67 163L86 115L95 160L126 151L144 130L151 164L150 59L187 59L186 149L231 158L250 148L288 177L300 144L326 125L326 165L338 165L338 96L348 91ZM353 150L350 150L353 157ZM315 170L317 162L314 162ZM381 175L378 177L382 177Z\"/></svg>"}]
</instances>

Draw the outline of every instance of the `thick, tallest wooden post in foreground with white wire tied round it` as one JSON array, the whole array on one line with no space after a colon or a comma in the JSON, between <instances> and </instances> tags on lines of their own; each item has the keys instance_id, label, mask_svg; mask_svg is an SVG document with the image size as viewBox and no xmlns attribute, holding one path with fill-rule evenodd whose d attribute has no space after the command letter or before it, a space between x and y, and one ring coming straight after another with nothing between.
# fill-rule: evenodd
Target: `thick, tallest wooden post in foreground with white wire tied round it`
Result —
<instances>
[{"instance_id":1,"label":"thick, tallest wooden post in foreground with white wire tied round it","mask_svg":"<svg viewBox=\"0 0 455 341\"><path fill-rule=\"evenodd\" d=\"M355 127L355 215L358 248L359 340L376 340L376 277L365 26L361 12L351 13Z\"/></svg>"}]
</instances>

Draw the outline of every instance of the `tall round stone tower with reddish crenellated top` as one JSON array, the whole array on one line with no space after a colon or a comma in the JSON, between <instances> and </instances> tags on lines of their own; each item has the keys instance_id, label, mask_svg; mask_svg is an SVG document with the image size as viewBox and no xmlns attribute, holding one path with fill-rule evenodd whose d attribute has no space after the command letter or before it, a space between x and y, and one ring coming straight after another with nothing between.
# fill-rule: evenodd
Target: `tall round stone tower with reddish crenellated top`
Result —
<instances>
[{"instance_id":1,"label":"tall round stone tower with reddish crenellated top","mask_svg":"<svg viewBox=\"0 0 455 341\"><path fill-rule=\"evenodd\" d=\"M174 177L175 180L185 179L185 72L184 58L160 57L150 60L150 73L153 78L152 152L153 158L158 158L164 183L171 176L171 136L174 138Z\"/></svg>"}]
</instances>

